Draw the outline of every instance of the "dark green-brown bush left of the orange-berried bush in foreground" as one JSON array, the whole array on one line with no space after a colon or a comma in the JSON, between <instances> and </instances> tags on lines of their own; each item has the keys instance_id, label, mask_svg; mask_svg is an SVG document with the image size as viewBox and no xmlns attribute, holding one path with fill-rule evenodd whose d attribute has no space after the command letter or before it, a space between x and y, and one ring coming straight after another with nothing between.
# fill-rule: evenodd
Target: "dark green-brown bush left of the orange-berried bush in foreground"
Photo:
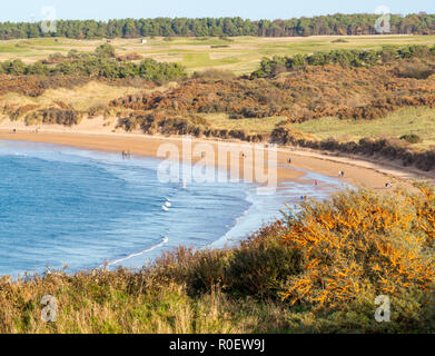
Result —
<instances>
[{"instance_id":1,"label":"dark green-brown bush left of the orange-berried bush in foreground","mask_svg":"<svg viewBox=\"0 0 435 356\"><path fill-rule=\"evenodd\" d=\"M187 283L192 296L209 293L218 285L235 297L281 298L289 274L300 271L298 253L283 240L281 221L263 228L239 248L194 251L179 248L156 261L156 278Z\"/></svg>"}]
</instances>

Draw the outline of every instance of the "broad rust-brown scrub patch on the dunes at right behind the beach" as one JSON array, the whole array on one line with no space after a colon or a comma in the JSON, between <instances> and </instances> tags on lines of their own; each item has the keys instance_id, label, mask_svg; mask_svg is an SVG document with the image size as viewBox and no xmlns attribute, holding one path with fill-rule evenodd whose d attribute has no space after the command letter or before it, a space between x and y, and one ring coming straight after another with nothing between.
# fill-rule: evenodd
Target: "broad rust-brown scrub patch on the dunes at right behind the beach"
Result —
<instances>
[{"instance_id":1,"label":"broad rust-brown scrub patch on the dunes at right behind the beach","mask_svg":"<svg viewBox=\"0 0 435 356\"><path fill-rule=\"evenodd\" d=\"M110 105L175 115L226 113L230 119L283 116L293 123L335 116L372 120L402 107L435 107L433 77L421 80L401 75L401 68L413 60L368 68L307 66L277 78L236 79L211 71L178 88L127 96ZM277 63L285 67L284 61Z\"/></svg>"}]
</instances>

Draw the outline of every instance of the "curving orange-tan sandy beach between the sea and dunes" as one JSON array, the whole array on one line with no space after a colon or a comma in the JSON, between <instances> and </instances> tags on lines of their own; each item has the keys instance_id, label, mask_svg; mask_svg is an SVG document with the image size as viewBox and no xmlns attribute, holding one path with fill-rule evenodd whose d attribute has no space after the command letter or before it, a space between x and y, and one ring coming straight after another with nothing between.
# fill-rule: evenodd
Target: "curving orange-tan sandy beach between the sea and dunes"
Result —
<instances>
[{"instance_id":1,"label":"curving orange-tan sandy beach between the sea and dunes","mask_svg":"<svg viewBox=\"0 0 435 356\"><path fill-rule=\"evenodd\" d=\"M80 128L80 126L73 129L58 126L42 127L38 130L38 134L34 132L34 128L21 127L13 134L11 127L2 125L0 127L0 139L66 145L82 149L119 152L120 155L123 150L128 150L131 155L148 157L156 157L159 147L164 144L174 144L179 149L182 147L181 137L110 132L103 129L97 130L93 127ZM241 147L249 148L250 146L246 142L194 138L192 147L195 148L198 144L209 144L215 149L217 149L218 145L234 149L240 149ZM289 159L291 159L291 164L288 162ZM368 159L358 157L337 157L326 152L296 150L291 148L279 148L277 162L278 182L283 180L298 180L313 184L312 181L304 181L305 174L301 170L309 170L335 178L338 176L338 171L343 170L345 171L344 179L348 184L378 190L386 190L385 184L387 181L398 186L409 186L409 180L434 179L434 172L423 172L414 168L404 168L389 161L369 161ZM216 165L218 165L217 157ZM230 169L229 166L227 168ZM240 168L243 168L243 164L240 164ZM241 171L240 176L243 176Z\"/></svg>"}]
</instances>

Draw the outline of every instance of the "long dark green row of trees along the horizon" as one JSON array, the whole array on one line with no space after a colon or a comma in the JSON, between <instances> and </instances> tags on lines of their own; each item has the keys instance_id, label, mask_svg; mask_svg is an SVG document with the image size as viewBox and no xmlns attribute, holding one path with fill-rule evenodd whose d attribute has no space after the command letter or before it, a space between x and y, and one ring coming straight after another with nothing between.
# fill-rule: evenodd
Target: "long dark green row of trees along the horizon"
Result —
<instances>
[{"instance_id":1,"label":"long dark green row of trees along the horizon","mask_svg":"<svg viewBox=\"0 0 435 356\"><path fill-rule=\"evenodd\" d=\"M330 14L289 20L259 20L235 18L157 18L121 19L109 21L59 20L56 32L43 32L38 22L2 22L0 39L40 37L89 38L139 38L151 36L258 36L299 37L332 34L375 34L379 14ZM390 16L390 33L435 33L435 14L413 13Z\"/></svg>"}]
</instances>

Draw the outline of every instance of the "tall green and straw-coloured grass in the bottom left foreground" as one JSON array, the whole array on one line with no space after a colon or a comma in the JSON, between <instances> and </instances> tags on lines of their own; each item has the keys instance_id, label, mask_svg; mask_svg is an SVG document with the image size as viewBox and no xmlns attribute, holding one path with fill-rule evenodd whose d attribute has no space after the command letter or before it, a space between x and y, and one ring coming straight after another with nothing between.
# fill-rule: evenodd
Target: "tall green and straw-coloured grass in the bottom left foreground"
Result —
<instances>
[{"instance_id":1,"label":"tall green and straw-coloured grass in the bottom left foreground","mask_svg":"<svg viewBox=\"0 0 435 356\"><path fill-rule=\"evenodd\" d=\"M142 285L137 285L137 283ZM130 286L128 285L130 284ZM30 287L33 286L33 290ZM132 290L131 287L138 288ZM147 289L146 289L147 288ZM274 333L283 306L246 300L243 306L218 288L191 297L179 284L159 284L142 274L113 273L46 276L14 284L19 310L0 312L8 334L245 334ZM42 296L57 298L57 319L45 323ZM0 296L0 299L1 298ZM18 312L18 313L17 313Z\"/></svg>"}]
</instances>

